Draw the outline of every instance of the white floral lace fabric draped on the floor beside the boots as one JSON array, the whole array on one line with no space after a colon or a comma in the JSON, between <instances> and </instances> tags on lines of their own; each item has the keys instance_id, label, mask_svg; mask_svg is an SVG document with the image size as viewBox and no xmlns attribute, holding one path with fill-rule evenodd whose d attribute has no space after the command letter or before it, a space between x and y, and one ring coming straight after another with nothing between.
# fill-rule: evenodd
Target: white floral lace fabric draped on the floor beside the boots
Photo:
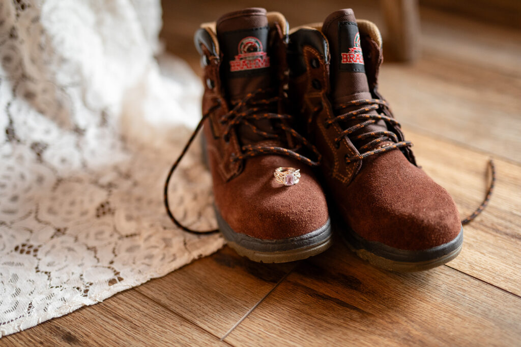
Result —
<instances>
[{"instance_id":1,"label":"white floral lace fabric draped on the floor beside the boots","mask_svg":"<svg viewBox=\"0 0 521 347\"><path fill-rule=\"evenodd\" d=\"M159 68L158 0L0 2L0 337L100 302L220 248L176 228L169 165L200 118L183 62ZM172 210L215 228L190 151Z\"/></svg>"}]
</instances>

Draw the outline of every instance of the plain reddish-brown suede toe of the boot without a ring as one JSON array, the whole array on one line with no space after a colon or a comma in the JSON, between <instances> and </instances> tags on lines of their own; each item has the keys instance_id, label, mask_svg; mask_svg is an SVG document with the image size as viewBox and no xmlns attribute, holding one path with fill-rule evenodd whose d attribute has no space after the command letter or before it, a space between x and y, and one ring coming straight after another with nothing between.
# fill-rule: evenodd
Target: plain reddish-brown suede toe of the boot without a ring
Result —
<instances>
[{"instance_id":1,"label":"plain reddish-brown suede toe of the boot without a ring","mask_svg":"<svg viewBox=\"0 0 521 347\"><path fill-rule=\"evenodd\" d=\"M449 193L399 150L366 160L344 194L346 220L368 241L419 251L451 242L462 230Z\"/></svg>"}]
</instances>

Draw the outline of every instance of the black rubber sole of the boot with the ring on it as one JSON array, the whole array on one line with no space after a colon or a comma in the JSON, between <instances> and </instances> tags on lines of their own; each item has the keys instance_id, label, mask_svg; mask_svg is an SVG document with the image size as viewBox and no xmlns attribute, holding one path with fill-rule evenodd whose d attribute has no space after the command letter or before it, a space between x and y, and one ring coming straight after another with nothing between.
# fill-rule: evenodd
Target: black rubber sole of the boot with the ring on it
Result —
<instances>
[{"instance_id":1,"label":"black rubber sole of the boot with the ring on it","mask_svg":"<svg viewBox=\"0 0 521 347\"><path fill-rule=\"evenodd\" d=\"M331 246L331 221L311 233L281 240L257 239L237 233L215 209L219 229L227 244L239 255L259 263L287 263L309 258L324 252Z\"/></svg>"}]
</instances>

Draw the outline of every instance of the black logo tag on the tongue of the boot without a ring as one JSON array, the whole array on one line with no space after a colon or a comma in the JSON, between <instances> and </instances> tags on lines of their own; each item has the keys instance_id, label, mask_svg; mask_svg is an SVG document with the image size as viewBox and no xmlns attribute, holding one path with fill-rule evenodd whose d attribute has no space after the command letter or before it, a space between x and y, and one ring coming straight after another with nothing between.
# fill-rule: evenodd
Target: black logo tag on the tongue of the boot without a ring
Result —
<instances>
[{"instance_id":1,"label":"black logo tag on the tongue of the boot without a ring","mask_svg":"<svg viewBox=\"0 0 521 347\"><path fill-rule=\"evenodd\" d=\"M340 70L351 72L365 72L364 55L360 46L360 33L355 22L340 22L339 47Z\"/></svg>"}]
</instances>

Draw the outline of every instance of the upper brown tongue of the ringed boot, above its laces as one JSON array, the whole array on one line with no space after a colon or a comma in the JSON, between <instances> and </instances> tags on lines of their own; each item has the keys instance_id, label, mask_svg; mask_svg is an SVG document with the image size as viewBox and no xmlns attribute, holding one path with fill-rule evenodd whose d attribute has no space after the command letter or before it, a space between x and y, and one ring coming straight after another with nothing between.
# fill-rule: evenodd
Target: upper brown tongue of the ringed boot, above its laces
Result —
<instances>
[{"instance_id":1,"label":"upper brown tongue of the ringed boot, above its laces","mask_svg":"<svg viewBox=\"0 0 521 347\"><path fill-rule=\"evenodd\" d=\"M232 104L271 85L268 18L264 8L246 8L219 18L221 79Z\"/></svg>"}]
</instances>

